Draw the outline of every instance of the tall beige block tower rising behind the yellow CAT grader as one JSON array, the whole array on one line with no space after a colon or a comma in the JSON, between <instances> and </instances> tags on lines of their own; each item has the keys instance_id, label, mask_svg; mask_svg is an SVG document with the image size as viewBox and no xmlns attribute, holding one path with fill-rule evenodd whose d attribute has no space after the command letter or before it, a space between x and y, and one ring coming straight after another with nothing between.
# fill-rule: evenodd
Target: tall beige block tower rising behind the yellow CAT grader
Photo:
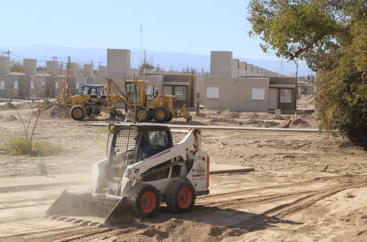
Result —
<instances>
[{"instance_id":1,"label":"tall beige block tower rising behind the yellow CAT grader","mask_svg":"<svg viewBox=\"0 0 367 242\"><path fill-rule=\"evenodd\" d=\"M128 49L107 49L107 72L113 75L130 73L131 51Z\"/></svg>"}]
</instances>

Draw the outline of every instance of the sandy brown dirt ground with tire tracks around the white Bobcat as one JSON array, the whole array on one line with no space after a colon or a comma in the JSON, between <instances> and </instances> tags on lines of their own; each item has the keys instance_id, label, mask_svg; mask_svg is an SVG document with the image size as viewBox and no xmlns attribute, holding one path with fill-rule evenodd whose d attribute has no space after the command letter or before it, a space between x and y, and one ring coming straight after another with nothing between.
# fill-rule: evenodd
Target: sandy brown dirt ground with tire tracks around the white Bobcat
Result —
<instances>
[{"instance_id":1,"label":"sandy brown dirt ground with tire tracks around the white Bobcat","mask_svg":"<svg viewBox=\"0 0 367 242\"><path fill-rule=\"evenodd\" d=\"M24 119L31 112L28 107L17 110ZM90 172L106 156L108 133L85 123L108 118L76 122L63 116L68 110L60 110L48 110L35 130L36 140L65 148L44 158L48 173ZM24 133L14 109L4 108L0 116L0 145ZM276 122L278 127L290 120L290 127L317 128L310 124L317 123L314 116L282 118L206 111L189 124L264 127ZM198 197L191 212L172 214L162 204L156 218L121 227L40 218L64 189L86 191L86 186L0 192L0 241L367 241L367 155L339 144L325 133L203 129L202 149L211 163L250 166L255 172L211 175L210 194ZM37 160L0 153L0 178L34 176ZM322 172L327 163L330 170Z\"/></svg>"}]
</instances>

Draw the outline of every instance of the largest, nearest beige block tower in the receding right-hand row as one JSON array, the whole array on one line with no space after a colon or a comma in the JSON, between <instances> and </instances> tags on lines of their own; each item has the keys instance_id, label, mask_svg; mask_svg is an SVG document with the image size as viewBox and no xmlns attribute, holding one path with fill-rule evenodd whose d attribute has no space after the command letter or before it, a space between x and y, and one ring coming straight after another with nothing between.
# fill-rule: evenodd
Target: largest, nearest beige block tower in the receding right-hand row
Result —
<instances>
[{"instance_id":1,"label":"largest, nearest beige block tower in the receding right-hand row","mask_svg":"<svg viewBox=\"0 0 367 242\"><path fill-rule=\"evenodd\" d=\"M231 51L211 51L210 75L215 77L231 77L232 56Z\"/></svg>"}]
</instances>

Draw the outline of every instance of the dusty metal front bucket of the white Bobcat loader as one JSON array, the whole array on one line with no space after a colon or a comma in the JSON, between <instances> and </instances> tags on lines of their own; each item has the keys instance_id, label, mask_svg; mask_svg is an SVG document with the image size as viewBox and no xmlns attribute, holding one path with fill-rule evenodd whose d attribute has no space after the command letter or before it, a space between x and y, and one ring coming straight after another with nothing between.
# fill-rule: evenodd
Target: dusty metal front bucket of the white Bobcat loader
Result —
<instances>
[{"instance_id":1,"label":"dusty metal front bucket of the white Bobcat loader","mask_svg":"<svg viewBox=\"0 0 367 242\"><path fill-rule=\"evenodd\" d=\"M63 217L97 217L104 225L133 221L127 197L64 190L45 212Z\"/></svg>"}]
</instances>

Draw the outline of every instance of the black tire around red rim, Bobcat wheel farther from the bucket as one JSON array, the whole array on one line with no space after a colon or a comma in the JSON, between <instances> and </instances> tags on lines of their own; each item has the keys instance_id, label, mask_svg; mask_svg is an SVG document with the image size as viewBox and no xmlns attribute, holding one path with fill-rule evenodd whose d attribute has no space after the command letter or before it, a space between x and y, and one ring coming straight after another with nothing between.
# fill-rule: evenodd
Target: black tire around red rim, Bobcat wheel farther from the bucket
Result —
<instances>
[{"instance_id":1,"label":"black tire around red rim, Bobcat wheel farther from the bucket","mask_svg":"<svg viewBox=\"0 0 367 242\"><path fill-rule=\"evenodd\" d=\"M178 205L178 193L182 188L188 188L191 191L191 202L189 206L182 208ZM165 200L167 208L175 213L185 213L189 212L195 204L196 194L193 185L190 182L184 181L173 181L168 185L165 194Z\"/></svg>"}]
</instances>

